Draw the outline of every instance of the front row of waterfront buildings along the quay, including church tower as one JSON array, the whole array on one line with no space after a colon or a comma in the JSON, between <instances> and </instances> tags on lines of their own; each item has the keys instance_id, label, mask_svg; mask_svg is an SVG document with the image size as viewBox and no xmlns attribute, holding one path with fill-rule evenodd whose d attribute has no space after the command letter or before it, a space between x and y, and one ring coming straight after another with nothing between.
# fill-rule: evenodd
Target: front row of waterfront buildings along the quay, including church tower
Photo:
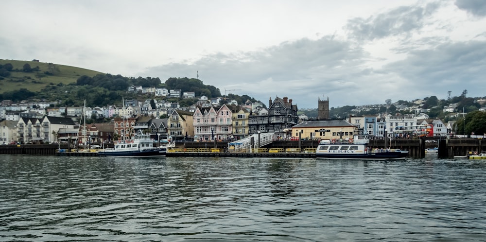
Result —
<instances>
[{"instance_id":1,"label":"front row of waterfront buildings along the quay, including church tower","mask_svg":"<svg viewBox=\"0 0 486 242\"><path fill-rule=\"evenodd\" d=\"M260 105L205 105L193 110L168 109L168 118L136 116L121 107L110 122L84 124L79 116L70 118L38 114L39 117L19 117L0 122L1 143L111 142L130 138L136 133L149 133L155 140L237 140L257 133L275 133L278 138L332 139L366 134L372 137L398 136L400 130L431 124L434 136L452 132L452 123L430 120L426 114L405 116L362 116L346 120L329 120L329 99L318 100L318 121L301 121L292 99L269 99L268 108ZM88 113L89 114L89 113ZM73 117L75 117L73 119ZM327 118L327 119L326 119ZM73 120L77 120L74 122Z\"/></svg>"}]
</instances>

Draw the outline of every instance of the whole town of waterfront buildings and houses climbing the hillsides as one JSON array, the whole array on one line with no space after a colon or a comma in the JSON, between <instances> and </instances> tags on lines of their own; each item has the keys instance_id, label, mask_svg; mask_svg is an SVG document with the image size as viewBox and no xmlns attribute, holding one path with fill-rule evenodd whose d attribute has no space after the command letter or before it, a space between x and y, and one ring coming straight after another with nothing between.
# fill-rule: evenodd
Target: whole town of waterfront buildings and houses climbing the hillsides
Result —
<instances>
[{"instance_id":1,"label":"whole town of waterfront buildings and houses climbing the hillsides","mask_svg":"<svg viewBox=\"0 0 486 242\"><path fill-rule=\"evenodd\" d=\"M166 88L130 86L129 92L153 93L157 96L194 98L194 92ZM13 103L3 100L0 105L0 144L110 143L130 138L134 134L150 134L157 143L185 141L234 141L253 134L272 134L280 140L352 138L367 135L370 138L453 137L458 129L455 121L430 119L425 112L412 114L381 113L332 120L329 98L316 100L317 117L297 114L297 105L288 97L261 102L238 104L225 97L208 99L197 97L196 104L181 107L178 103L146 99L123 100L122 106L55 107L48 102ZM225 104L221 104L224 100ZM417 107L422 100L414 101ZM486 100L476 102L484 105ZM53 107L54 106L54 107ZM398 108L406 108L399 106ZM366 108L361 106L360 108ZM426 111L418 109L420 111ZM454 105L444 108L453 113ZM484 108L480 109L484 112ZM455 113L464 117L465 113ZM86 119L108 118L108 122L86 123ZM483 138L482 134L472 137Z\"/></svg>"}]
</instances>

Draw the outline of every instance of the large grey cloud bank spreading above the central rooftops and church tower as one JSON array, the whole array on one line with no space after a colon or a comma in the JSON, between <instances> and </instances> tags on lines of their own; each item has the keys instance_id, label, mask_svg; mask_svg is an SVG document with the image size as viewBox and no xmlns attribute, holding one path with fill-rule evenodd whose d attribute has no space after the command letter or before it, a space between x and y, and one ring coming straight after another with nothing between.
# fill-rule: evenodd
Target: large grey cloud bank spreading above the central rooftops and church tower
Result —
<instances>
[{"instance_id":1,"label":"large grey cloud bank spreading above the central rooftops and church tower","mask_svg":"<svg viewBox=\"0 0 486 242\"><path fill-rule=\"evenodd\" d=\"M352 76L362 75L360 65L367 53L332 36L318 40L299 39L255 52L214 53L194 63L171 63L146 69L142 75L195 77L224 90L242 89L266 101L268 97L289 96L300 106L312 107L322 95L354 88ZM236 88L231 88L236 89ZM300 98L298 98L300 97ZM314 100L315 99L315 100Z\"/></svg>"}]
</instances>

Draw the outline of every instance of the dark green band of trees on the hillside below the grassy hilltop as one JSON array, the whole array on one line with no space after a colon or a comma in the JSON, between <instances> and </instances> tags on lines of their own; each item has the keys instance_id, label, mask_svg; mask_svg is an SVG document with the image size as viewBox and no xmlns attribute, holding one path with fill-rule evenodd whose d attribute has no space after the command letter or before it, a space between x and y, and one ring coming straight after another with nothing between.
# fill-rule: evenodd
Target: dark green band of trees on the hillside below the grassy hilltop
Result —
<instances>
[{"instance_id":1,"label":"dark green band of trees on the hillside below the grassy hilltop","mask_svg":"<svg viewBox=\"0 0 486 242\"><path fill-rule=\"evenodd\" d=\"M5 65L4 65L5 66ZM8 67L7 67L8 68ZM47 85L38 92L32 92L25 88L4 92L0 94L1 100L12 100L19 102L22 100L42 100L42 101L58 101L59 106L81 106L84 100L86 105L90 107L106 106L106 105L121 105L122 98L127 99L157 99L166 100L168 102L179 102L180 105L188 106L195 104L198 99L177 99L169 97L155 97L154 94L139 94L137 92L128 92L129 86L143 86L143 87L165 87L167 89L181 89L185 91L193 91L196 97L202 95L208 98L220 97L221 92L215 86L204 85L199 79L194 78L175 78L171 77L164 83L160 79L152 77L124 77L121 75L112 74L98 74L94 77L81 76L76 80L76 83L63 85ZM141 96L143 95L143 97ZM254 98L248 95L238 96L230 94L228 99L222 103L230 100L236 100L238 104L242 104L247 100L256 102Z\"/></svg>"}]
</instances>

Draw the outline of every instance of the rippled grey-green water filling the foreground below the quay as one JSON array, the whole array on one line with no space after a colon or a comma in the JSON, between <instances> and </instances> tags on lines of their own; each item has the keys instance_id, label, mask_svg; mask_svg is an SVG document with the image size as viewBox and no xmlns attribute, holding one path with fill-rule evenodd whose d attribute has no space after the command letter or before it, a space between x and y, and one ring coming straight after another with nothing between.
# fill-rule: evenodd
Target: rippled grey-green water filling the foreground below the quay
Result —
<instances>
[{"instance_id":1,"label":"rippled grey-green water filling the foreground below the quay","mask_svg":"<svg viewBox=\"0 0 486 242\"><path fill-rule=\"evenodd\" d=\"M486 162L0 158L0 241L486 241Z\"/></svg>"}]
</instances>

